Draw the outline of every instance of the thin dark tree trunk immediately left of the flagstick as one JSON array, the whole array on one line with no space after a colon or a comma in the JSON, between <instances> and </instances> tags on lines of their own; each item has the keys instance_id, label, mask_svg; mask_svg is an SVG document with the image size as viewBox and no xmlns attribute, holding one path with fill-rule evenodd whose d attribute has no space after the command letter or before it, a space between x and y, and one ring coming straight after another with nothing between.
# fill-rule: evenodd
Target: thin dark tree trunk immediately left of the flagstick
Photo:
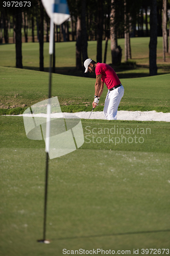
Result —
<instances>
[{"instance_id":1,"label":"thin dark tree trunk immediately left of the flagstick","mask_svg":"<svg viewBox=\"0 0 170 256\"><path fill-rule=\"evenodd\" d=\"M43 56L43 46L44 46L44 8L40 2L40 34L39 34L39 67L40 71L44 71L44 56Z\"/></svg>"}]
</instances>

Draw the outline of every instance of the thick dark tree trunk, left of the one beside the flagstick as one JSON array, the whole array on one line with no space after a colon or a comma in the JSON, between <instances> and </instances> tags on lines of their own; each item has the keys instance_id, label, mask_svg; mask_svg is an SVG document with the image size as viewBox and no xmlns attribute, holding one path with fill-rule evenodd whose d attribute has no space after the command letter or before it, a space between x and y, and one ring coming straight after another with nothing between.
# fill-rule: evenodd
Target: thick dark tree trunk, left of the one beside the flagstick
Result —
<instances>
[{"instance_id":1,"label":"thick dark tree trunk, left of the one beside the flagstick","mask_svg":"<svg viewBox=\"0 0 170 256\"><path fill-rule=\"evenodd\" d=\"M15 17L16 68L22 69L22 14L18 13Z\"/></svg>"}]
</instances>

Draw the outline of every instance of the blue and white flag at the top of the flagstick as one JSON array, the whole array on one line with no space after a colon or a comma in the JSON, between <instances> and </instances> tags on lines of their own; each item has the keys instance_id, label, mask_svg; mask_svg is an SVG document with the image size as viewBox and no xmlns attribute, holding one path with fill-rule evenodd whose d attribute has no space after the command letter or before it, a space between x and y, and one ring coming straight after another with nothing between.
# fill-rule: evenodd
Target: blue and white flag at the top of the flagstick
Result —
<instances>
[{"instance_id":1,"label":"blue and white flag at the top of the flagstick","mask_svg":"<svg viewBox=\"0 0 170 256\"><path fill-rule=\"evenodd\" d=\"M70 17L66 0L41 0L41 2L56 25L61 25Z\"/></svg>"}]
</instances>

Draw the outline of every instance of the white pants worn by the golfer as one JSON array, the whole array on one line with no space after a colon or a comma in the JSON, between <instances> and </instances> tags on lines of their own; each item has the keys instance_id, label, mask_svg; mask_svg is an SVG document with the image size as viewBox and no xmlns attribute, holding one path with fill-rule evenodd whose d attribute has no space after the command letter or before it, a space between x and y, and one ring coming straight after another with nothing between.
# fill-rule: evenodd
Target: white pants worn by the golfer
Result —
<instances>
[{"instance_id":1,"label":"white pants worn by the golfer","mask_svg":"<svg viewBox=\"0 0 170 256\"><path fill-rule=\"evenodd\" d=\"M103 110L105 118L107 120L116 120L118 105L123 96L124 96L123 86L120 86L112 91L108 90L108 93L105 99L105 106Z\"/></svg>"}]
</instances>

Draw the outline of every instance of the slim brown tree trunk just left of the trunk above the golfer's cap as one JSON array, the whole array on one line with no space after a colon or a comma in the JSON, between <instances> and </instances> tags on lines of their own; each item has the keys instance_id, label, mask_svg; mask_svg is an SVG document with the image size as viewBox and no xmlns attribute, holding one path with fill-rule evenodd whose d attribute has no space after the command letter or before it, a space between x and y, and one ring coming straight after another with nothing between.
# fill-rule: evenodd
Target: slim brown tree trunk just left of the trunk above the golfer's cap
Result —
<instances>
[{"instance_id":1,"label":"slim brown tree trunk just left of the trunk above the golfer's cap","mask_svg":"<svg viewBox=\"0 0 170 256\"><path fill-rule=\"evenodd\" d=\"M77 17L77 31L76 31L76 68L82 69L82 58L81 58L81 19Z\"/></svg>"}]
</instances>

